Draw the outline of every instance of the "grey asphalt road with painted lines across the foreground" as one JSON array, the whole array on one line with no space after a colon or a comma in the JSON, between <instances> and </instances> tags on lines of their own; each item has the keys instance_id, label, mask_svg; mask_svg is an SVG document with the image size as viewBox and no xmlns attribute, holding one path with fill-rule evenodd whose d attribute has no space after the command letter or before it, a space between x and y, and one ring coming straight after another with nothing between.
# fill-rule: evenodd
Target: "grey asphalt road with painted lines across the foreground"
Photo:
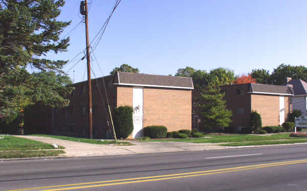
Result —
<instances>
[{"instance_id":1,"label":"grey asphalt road with painted lines across the foreground","mask_svg":"<svg viewBox=\"0 0 307 191\"><path fill-rule=\"evenodd\" d=\"M254 147L1 161L0 190L307 190L306 174L306 145Z\"/></svg>"}]
</instances>

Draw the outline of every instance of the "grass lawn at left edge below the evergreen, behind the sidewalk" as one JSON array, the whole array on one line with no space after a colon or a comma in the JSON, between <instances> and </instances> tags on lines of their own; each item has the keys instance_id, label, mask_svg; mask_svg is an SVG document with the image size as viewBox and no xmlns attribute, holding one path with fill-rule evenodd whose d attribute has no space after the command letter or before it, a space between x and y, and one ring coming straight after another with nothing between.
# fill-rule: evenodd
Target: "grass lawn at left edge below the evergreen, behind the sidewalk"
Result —
<instances>
[{"instance_id":1,"label":"grass lawn at left edge below the evergreen, behind the sidewalk","mask_svg":"<svg viewBox=\"0 0 307 191\"><path fill-rule=\"evenodd\" d=\"M0 151L55 149L52 145L10 135L0 135ZM59 146L58 149L64 149Z\"/></svg>"}]
</instances>

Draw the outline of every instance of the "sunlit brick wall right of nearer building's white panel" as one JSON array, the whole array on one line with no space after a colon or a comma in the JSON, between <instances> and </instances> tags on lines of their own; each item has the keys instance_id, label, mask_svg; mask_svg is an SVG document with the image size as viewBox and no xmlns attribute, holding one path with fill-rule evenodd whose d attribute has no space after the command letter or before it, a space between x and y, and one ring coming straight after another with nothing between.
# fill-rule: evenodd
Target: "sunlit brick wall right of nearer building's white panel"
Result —
<instances>
[{"instance_id":1,"label":"sunlit brick wall right of nearer building's white panel","mask_svg":"<svg viewBox=\"0 0 307 191\"><path fill-rule=\"evenodd\" d=\"M191 90L143 89L143 126L164 125L168 131L191 130Z\"/></svg>"}]
</instances>

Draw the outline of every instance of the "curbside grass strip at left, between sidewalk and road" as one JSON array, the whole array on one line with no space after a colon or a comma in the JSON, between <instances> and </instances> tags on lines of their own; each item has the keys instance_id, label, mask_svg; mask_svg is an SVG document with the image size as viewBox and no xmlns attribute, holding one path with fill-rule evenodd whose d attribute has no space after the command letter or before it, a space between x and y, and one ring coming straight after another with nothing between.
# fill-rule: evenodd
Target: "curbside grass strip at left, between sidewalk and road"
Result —
<instances>
[{"instance_id":1,"label":"curbside grass strip at left, between sidewalk and road","mask_svg":"<svg viewBox=\"0 0 307 191\"><path fill-rule=\"evenodd\" d=\"M43 151L2 151L0 158L26 158L26 157L41 157L41 156L58 156L65 153L61 150L43 150Z\"/></svg>"}]
</instances>

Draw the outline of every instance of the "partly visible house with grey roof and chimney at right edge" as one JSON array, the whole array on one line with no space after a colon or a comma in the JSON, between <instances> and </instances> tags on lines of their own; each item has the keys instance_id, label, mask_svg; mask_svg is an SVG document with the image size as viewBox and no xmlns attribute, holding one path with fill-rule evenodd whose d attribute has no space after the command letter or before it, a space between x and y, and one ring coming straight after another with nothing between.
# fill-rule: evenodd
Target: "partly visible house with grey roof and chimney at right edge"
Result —
<instances>
[{"instance_id":1,"label":"partly visible house with grey roof and chimney at right edge","mask_svg":"<svg viewBox=\"0 0 307 191\"><path fill-rule=\"evenodd\" d=\"M292 109L300 110L302 115L307 115L307 83L301 79L287 77L287 86L293 89L291 97Z\"/></svg>"}]
</instances>

